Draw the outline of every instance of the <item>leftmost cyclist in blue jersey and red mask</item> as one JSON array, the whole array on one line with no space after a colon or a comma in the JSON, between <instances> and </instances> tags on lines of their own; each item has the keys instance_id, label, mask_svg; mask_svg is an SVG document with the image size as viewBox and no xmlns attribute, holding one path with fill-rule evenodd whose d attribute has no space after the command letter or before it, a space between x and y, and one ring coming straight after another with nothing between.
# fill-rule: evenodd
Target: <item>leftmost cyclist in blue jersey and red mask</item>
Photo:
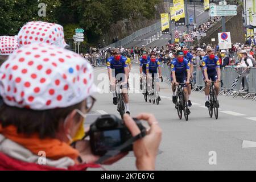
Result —
<instances>
[{"instance_id":1,"label":"leftmost cyclist in blue jersey and red mask","mask_svg":"<svg viewBox=\"0 0 256 182\"><path fill-rule=\"evenodd\" d=\"M127 78L129 74L127 58L121 56L119 49L113 49L113 56L107 60L108 74L110 80L110 90L113 93L113 104L117 105L117 97L115 96L115 81L122 81L122 94L125 100L125 111L130 114L129 97L127 94ZM114 69L114 72L112 72ZM117 77L118 76L118 77Z\"/></svg>"}]
</instances>

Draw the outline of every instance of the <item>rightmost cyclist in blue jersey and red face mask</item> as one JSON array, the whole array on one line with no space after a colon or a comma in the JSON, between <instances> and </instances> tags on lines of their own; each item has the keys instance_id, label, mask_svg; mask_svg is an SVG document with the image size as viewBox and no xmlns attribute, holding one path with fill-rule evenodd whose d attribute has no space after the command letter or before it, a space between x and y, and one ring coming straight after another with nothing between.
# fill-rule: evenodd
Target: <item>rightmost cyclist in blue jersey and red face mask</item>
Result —
<instances>
[{"instance_id":1,"label":"rightmost cyclist in blue jersey and red face mask","mask_svg":"<svg viewBox=\"0 0 256 182\"><path fill-rule=\"evenodd\" d=\"M218 96L218 89L219 89L219 83L221 78L221 71L220 71L220 61L218 60L218 57L214 55L213 49L208 49L207 51L208 55L204 56L203 59L203 76L204 76L204 82L205 82L205 106L209 107L209 93L210 93L210 82L216 81L214 83L215 89L216 89L216 97ZM216 103L216 107L219 107L218 102Z\"/></svg>"}]
</instances>

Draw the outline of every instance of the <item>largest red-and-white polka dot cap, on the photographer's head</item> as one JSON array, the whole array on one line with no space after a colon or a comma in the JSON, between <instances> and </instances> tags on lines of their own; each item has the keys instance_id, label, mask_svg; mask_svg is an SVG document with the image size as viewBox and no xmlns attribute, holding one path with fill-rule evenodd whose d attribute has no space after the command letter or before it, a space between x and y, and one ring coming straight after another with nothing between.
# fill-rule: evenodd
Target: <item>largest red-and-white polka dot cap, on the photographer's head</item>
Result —
<instances>
[{"instance_id":1,"label":"largest red-and-white polka dot cap, on the photographer's head","mask_svg":"<svg viewBox=\"0 0 256 182\"><path fill-rule=\"evenodd\" d=\"M97 92L92 66L75 52L30 44L20 47L0 68L5 104L33 110L68 107Z\"/></svg>"}]
</instances>

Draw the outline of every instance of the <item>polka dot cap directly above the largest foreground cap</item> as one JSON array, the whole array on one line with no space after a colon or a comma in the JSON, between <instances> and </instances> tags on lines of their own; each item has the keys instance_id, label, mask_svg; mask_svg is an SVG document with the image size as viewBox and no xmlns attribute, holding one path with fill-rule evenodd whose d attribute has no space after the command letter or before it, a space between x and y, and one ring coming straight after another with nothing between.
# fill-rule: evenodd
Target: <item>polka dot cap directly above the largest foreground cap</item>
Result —
<instances>
[{"instance_id":1,"label":"polka dot cap directly above the largest foreground cap","mask_svg":"<svg viewBox=\"0 0 256 182\"><path fill-rule=\"evenodd\" d=\"M19 31L19 46L32 43L48 43L61 48L67 46L63 27L60 24L47 22L28 22Z\"/></svg>"}]
</instances>

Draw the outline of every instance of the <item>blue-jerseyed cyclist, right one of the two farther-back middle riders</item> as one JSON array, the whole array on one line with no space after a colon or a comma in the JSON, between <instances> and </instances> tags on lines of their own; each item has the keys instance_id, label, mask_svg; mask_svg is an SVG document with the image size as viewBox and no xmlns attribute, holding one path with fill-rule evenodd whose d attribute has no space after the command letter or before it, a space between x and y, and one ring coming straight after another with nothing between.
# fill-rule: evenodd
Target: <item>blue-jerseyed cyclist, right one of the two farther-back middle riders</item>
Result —
<instances>
[{"instance_id":1,"label":"blue-jerseyed cyclist, right one of the two farther-back middle riders","mask_svg":"<svg viewBox=\"0 0 256 182\"><path fill-rule=\"evenodd\" d=\"M148 77L148 82L151 82L151 80L153 78L156 83L156 89L158 90L158 92L160 92L159 80L155 74L158 74L158 72L159 72L159 78L161 78L162 70L161 70L160 61L158 59L156 59L156 55L154 53L152 53L150 56L150 61L148 61L148 63L147 63L146 70L147 70L147 75L148 75L148 73L150 73L149 77ZM160 101L161 100L160 96L158 96L157 99Z\"/></svg>"}]
</instances>

